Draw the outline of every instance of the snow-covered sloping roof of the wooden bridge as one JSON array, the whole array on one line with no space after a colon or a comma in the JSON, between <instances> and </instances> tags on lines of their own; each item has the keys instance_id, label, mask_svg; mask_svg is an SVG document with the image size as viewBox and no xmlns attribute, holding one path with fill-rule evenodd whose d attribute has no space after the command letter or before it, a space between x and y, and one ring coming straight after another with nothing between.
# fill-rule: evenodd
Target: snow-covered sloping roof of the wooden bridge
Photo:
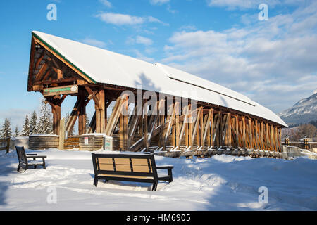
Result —
<instances>
[{"instance_id":1,"label":"snow-covered sloping roof of the wooden bridge","mask_svg":"<svg viewBox=\"0 0 317 225\"><path fill-rule=\"evenodd\" d=\"M247 96L206 79L161 63L147 63L137 58L43 32L34 31L32 33L68 62L75 65L92 82L133 89L142 88L194 99L263 117L287 127L287 124L268 108L251 101Z\"/></svg>"}]
</instances>

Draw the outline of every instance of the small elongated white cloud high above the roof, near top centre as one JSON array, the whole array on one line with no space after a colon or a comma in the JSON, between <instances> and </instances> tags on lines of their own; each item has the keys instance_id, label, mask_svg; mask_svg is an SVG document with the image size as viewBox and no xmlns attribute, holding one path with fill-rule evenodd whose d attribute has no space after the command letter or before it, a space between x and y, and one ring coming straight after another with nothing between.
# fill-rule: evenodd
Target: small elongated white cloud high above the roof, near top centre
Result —
<instances>
[{"instance_id":1,"label":"small elongated white cloud high above the roof, near top centre","mask_svg":"<svg viewBox=\"0 0 317 225\"><path fill-rule=\"evenodd\" d=\"M111 23L114 25L140 25L143 23L161 23L163 25L168 25L168 23L164 23L153 16L139 17L120 13L99 13L96 17L105 23Z\"/></svg>"}]
</instances>

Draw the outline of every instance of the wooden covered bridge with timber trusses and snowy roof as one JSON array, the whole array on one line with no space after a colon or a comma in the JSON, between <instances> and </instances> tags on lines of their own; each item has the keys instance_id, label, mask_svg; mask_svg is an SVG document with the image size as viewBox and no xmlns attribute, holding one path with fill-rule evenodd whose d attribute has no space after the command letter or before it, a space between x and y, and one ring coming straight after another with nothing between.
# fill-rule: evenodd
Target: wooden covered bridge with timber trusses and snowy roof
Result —
<instances>
[{"instance_id":1,"label":"wooden covered bridge with timber trusses and snowy roof","mask_svg":"<svg viewBox=\"0 0 317 225\"><path fill-rule=\"evenodd\" d=\"M27 91L41 92L51 105L57 135L64 99L77 96L66 131L77 120L80 135L113 136L113 150L242 149L276 156L287 127L271 110L213 82L42 32L32 32ZM95 113L87 128L91 100Z\"/></svg>"}]
</instances>

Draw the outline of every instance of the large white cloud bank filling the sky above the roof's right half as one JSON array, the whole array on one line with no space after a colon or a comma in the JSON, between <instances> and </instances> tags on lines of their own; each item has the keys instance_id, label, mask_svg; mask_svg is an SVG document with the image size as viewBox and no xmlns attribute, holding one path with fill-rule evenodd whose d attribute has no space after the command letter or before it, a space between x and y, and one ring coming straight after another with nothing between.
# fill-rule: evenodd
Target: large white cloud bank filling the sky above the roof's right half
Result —
<instances>
[{"instance_id":1,"label":"large white cloud bank filling the sky above the roof's right half","mask_svg":"<svg viewBox=\"0 0 317 225\"><path fill-rule=\"evenodd\" d=\"M241 29L175 32L161 61L282 111L317 86L316 6Z\"/></svg>"}]
</instances>

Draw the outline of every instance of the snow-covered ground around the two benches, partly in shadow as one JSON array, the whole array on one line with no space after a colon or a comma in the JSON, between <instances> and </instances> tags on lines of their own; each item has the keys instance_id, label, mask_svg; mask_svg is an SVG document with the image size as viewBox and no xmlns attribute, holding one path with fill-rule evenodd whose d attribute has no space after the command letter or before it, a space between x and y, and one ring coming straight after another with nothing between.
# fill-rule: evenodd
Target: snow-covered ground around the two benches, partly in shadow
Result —
<instances>
[{"instance_id":1,"label":"snow-covered ground around the two benches, partly in shadow","mask_svg":"<svg viewBox=\"0 0 317 225\"><path fill-rule=\"evenodd\" d=\"M308 158L156 156L157 165L174 165L174 181L151 192L150 184L120 181L96 188L90 152L37 153L47 155L47 169L20 174L15 151L0 152L0 210L317 210L317 161ZM268 203L259 203L261 186Z\"/></svg>"}]
</instances>

